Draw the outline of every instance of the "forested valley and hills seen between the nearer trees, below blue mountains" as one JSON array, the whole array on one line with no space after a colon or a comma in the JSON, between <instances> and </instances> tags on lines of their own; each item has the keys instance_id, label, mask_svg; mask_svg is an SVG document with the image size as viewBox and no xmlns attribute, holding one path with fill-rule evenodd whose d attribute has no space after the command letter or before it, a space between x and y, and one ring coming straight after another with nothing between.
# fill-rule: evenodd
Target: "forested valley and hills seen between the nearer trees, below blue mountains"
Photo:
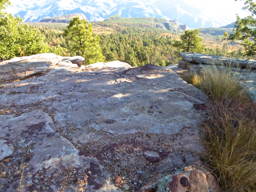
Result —
<instances>
[{"instance_id":1,"label":"forested valley and hills seen between the nearer trees, below blue mountains","mask_svg":"<svg viewBox=\"0 0 256 192\"><path fill-rule=\"evenodd\" d=\"M66 18L66 17L64 17ZM50 18L47 18L48 20ZM63 37L67 23L52 22L26 23L39 30L44 47L40 52L54 52L61 56L74 56L77 52L68 49ZM94 36L99 36L103 53L102 61L120 60L131 66L156 64L167 66L180 60L179 47L174 47L183 30L173 21L162 18L121 18L114 15L104 21L92 22ZM232 29L200 29L203 49L201 53L225 57L241 57L241 46L221 42L224 32ZM40 53L39 52L39 53ZM21 55L22 56L22 55Z\"/></svg>"}]
</instances>

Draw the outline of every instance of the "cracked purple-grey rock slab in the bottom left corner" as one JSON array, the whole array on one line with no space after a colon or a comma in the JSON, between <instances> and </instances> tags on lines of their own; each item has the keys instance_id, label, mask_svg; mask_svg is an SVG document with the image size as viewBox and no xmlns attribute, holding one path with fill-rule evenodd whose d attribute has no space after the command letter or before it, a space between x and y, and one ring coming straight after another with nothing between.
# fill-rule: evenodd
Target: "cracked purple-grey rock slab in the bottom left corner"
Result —
<instances>
[{"instance_id":1,"label":"cracked purple-grey rock slab in the bottom left corner","mask_svg":"<svg viewBox=\"0 0 256 192\"><path fill-rule=\"evenodd\" d=\"M12 166L12 162L16 164L27 162L24 176L27 177L28 172L32 173L26 178L26 182L32 183L27 190L40 191L41 184L46 180L47 184L61 183L63 174L67 174L67 170L71 173L69 180L72 182L77 181L78 178L83 179L83 173L91 172L88 173L89 176L92 175L89 178L91 191L109 182L110 175L102 163L90 154L81 155L80 150L56 132L51 117L42 110L24 113L19 117L0 115L0 121L0 138L15 145L13 160L7 165ZM10 147L10 143L6 140L4 143L9 144ZM8 156L10 155L12 153ZM93 178L96 174L97 177ZM13 183L5 185L4 191L15 191L18 182L19 180L15 179ZM57 191L58 188L56 185L51 185L49 190Z\"/></svg>"}]
</instances>

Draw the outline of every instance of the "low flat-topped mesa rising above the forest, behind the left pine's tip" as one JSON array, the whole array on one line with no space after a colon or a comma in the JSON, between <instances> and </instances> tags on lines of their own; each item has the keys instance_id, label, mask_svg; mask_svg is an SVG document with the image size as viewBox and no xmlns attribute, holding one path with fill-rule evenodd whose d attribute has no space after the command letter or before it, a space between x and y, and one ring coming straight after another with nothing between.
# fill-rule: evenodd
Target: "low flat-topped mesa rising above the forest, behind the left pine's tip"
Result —
<instances>
[{"instance_id":1,"label":"low flat-topped mesa rising above the forest, behind the left pine's tip","mask_svg":"<svg viewBox=\"0 0 256 192\"><path fill-rule=\"evenodd\" d=\"M74 13L69 15L63 15L63 16L57 16L57 17L44 17L40 20L40 22L51 22L51 23L69 23L69 20L71 20L73 17L79 17L80 19L85 19L88 21L86 16L81 13Z\"/></svg>"}]
</instances>

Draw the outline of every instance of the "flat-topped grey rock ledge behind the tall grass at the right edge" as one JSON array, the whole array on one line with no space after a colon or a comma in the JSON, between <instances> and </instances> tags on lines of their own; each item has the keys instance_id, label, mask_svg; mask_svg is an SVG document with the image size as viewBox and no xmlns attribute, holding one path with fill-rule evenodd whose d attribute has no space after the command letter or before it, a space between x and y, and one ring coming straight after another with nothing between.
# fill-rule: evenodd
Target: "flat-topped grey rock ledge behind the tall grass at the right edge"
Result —
<instances>
[{"instance_id":1,"label":"flat-topped grey rock ledge behind the tall grass at the right edge","mask_svg":"<svg viewBox=\"0 0 256 192\"><path fill-rule=\"evenodd\" d=\"M182 60L178 67L185 70L194 70L198 73L211 68L213 65L222 69L230 67L237 75L243 87L256 101L256 61L247 59L235 59L227 57L218 57L214 55L204 55L199 53L179 53Z\"/></svg>"}]
</instances>

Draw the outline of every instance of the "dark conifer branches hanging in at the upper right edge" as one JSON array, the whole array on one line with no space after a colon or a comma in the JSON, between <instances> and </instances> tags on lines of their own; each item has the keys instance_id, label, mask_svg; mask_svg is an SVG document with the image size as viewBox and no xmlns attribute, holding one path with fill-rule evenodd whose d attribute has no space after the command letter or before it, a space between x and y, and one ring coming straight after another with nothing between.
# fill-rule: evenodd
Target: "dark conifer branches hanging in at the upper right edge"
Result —
<instances>
[{"instance_id":1,"label":"dark conifer branches hanging in at the upper right edge","mask_svg":"<svg viewBox=\"0 0 256 192\"><path fill-rule=\"evenodd\" d=\"M256 3L252 0L247 0L244 5L246 6L243 9L251 12L251 15L244 19L237 15L233 33L228 35L225 32L222 40L242 45L244 47L244 55L256 58Z\"/></svg>"}]
</instances>

